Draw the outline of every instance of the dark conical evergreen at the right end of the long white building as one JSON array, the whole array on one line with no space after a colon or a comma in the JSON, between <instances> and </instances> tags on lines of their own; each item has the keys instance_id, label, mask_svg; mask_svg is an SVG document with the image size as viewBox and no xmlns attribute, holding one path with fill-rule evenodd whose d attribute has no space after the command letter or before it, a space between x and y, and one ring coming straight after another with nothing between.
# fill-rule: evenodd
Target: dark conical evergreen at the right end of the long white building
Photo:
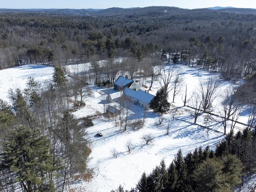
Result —
<instances>
[{"instance_id":1,"label":"dark conical evergreen at the right end of the long white building","mask_svg":"<svg viewBox=\"0 0 256 192\"><path fill-rule=\"evenodd\" d=\"M150 108L156 112L166 112L170 108L170 103L168 102L168 94L166 89L162 87L156 92L156 96L150 102Z\"/></svg>"}]
</instances>

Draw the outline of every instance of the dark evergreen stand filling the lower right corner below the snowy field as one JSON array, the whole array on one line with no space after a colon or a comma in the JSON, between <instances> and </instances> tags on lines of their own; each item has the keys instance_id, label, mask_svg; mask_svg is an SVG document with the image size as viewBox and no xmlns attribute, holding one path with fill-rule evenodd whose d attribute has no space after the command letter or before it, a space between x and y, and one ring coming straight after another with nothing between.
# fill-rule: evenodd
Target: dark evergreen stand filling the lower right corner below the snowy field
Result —
<instances>
[{"instance_id":1,"label":"dark evergreen stand filling the lower right corner below the snowy field","mask_svg":"<svg viewBox=\"0 0 256 192\"><path fill-rule=\"evenodd\" d=\"M216 152L196 148L182 156L179 150L166 167L164 160L150 174L143 173L136 188L126 192L231 192L256 166L256 131L230 133ZM122 186L112 192L124 192Z\"/></svg>"}]
</instances>

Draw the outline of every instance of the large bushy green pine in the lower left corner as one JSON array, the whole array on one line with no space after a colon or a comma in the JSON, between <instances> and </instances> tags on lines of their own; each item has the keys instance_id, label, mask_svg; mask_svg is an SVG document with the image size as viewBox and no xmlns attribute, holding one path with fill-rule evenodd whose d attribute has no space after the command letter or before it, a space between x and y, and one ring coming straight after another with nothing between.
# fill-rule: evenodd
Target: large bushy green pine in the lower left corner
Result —
<instances>
[{"instance_id":1,"label":"large bushy green pine in the lower left corner","mask_svg":"<svg viewBox=\"0 0 256 192\"><path fill-rule=\"evenodd\" d=\"M55 191L51 173L54 170L50 141L40 130L20 126L3 142L2 166L8 168L13 180L20 182L25 192Z\"/></svg>"}]
</instances>

